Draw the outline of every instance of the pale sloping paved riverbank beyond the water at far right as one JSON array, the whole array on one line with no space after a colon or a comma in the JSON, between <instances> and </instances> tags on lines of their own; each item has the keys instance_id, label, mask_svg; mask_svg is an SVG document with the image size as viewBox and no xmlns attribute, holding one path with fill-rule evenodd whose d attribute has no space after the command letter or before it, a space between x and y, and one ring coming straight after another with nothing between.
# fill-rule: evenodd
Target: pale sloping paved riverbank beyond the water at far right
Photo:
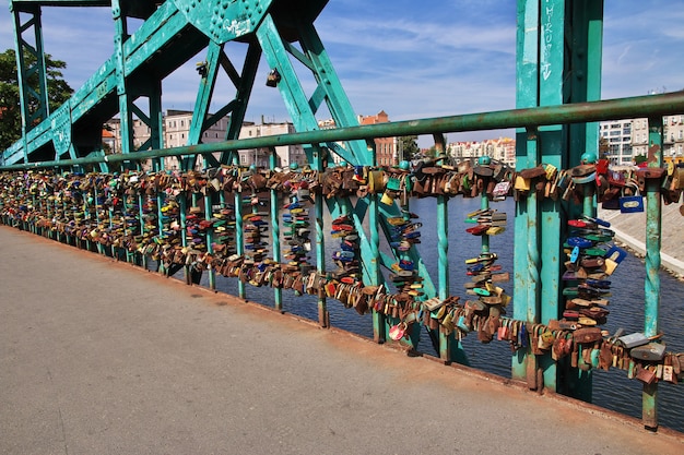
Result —
<instances>
[{"instance_id":1,"label":"pale sloping paved riverbank beyond the water at far right","mask_svg":"<svg viewBox=\"0 0 684 455\"><path fill-rule=\"evenodd\" d=\"M645 200L646 202L646 200ZM646 212L624 214L599 208L599 218L611 223L615 240L637 256L646 255ZM662 206L661 265L684 280L684 216L680 204Z\"/></svg>"}]
</instances>

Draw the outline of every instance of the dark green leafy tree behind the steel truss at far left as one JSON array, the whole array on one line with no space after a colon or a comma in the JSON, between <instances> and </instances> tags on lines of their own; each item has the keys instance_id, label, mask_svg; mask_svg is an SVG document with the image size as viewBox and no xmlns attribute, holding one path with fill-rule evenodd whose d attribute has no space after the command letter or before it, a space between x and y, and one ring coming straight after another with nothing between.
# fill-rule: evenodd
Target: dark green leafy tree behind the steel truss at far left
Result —
<instances>
[{"instance_id":1,"label":"dark green leafy tree behind the steel truss at far left","mask_svg":"<svg viewBox=\"0 0 684 455\"><path fill-rule=\"evenodd\" d=\"M35 63L36 58L26 52L26 65ZM50 112L61 106L73 93L73 88L63 80L62 72L67 63L61 60L52 60L51 56L45 55L45 68L47 76L48 105ZM34 73L26 83L34 91L38 91L38 74ZM33 100L28 109L35 112L37 101ZM16 53L8 49L0 53L0 151L8 148L22 136L22 110L19 93L19 71L16 68Z\"/></svg>"}]
</instances>

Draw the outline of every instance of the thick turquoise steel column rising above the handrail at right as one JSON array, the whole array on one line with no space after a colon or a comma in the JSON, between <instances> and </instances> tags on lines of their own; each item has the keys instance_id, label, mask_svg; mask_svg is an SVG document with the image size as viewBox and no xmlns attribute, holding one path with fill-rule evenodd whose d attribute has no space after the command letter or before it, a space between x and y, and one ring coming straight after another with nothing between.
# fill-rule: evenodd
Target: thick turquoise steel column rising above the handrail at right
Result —
<instances>
[{"instance_id":1,"label":"thick turquoise steel column rising above the handrail at right","mask_svg":"<svg viewBox=\"0 0 684 455\"><path fill-rule=\"evenodd\" d=\"M517 106L556 106L600 97L603 3L589 0L518 1ZM598 146L598 125L539 127L528 136L518 134L518 169L539 164L567 168ZM566 232L564 203L538 201L534 191L516 207L516 262L514 316L547 323L562 312L561 265L565 261L561 239ZM567 207L570 216L582 212ZM591 215L591 213L589 213ZM527 251L524 251L527 250ZM527 253L527 254L526 254ZM526 272L527 271L527 272ZM528 294L529 292L529 294ZM527 296L527 304L523 301ZM522 307L522 308L521 308ZM544 386L557 391L556 364L549 355L538 356ZM530 357L531 359L531 357ZM522 379L523 359L514 358L514 378ZM591 399L590 375L582 372L570 393ZM538 384L540 385L540 384Z\"/></svg>"}]
</instances>

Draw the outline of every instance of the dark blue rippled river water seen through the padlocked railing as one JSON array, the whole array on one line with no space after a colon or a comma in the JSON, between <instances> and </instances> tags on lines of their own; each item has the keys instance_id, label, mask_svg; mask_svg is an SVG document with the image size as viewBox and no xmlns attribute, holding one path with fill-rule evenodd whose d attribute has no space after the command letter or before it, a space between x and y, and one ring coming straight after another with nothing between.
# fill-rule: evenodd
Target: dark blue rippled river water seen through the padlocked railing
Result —
<instances>
[{"instance_id":1,"label":"dark blue rippled river water seen through the padlocked railing","mask_svg":"<svg viewBox=\"0 0 684 455\"><path fill-rule=\"evenodd\" d=\"M421 229L421 243L417 249L421 252L426 266L436 280L437 275L437 226L436 226L436 200L414 199L411 201L411 211L420 216L423 223ZM450 295L461 297L461 301L468 298L463 289L463 283L470 280L465 275L464 261L479 254L481 238L465 232L472 225L464 223L465 215L480 208L480 199L455 197L449 201L449 288ZM515 202L510 199L492 204L492 208L508 214L508 226L504 234L493 236L490 239L490 249L499 256L498 263L504 271L512 275L514 262L514 214ZM625 215L628 216L628 215ZM330 226L330 219L326 220ZM663 226L663 230L668 229ZM327 241L327 258L334 251L338 241ZM331 270L334 268L329 264ZM641 332L644 330L644 301L646 270L642 260L629 254L620 264L611 276L613 286L610 298L611 314L603 328L615 333L620 327L625 333ZM203 285L207 285L205 277ZM665 333L663 338L669 351L684 351L684 283L677 282L671 275L661 272L661 304L660 304L660 330ZM437 286L437 283L435 283ZM237 279L217 277L217 290L237 295ZM503 284L507 294L512 295L512 282ZM271 288L253 288L247 286L247 298L266 306L273 306L273 290ZM295 296L293 291L283 291L283 309L286 312L297 314L310 320L318 319L317 299L315 296ZM369 314L361 316L353 309L345 309L339 301L330 299L328 303L331 325L349 332L373 337L373 321ZM508 315L512 315L512 308L507 309ZM470 366L488 373L504 378L510 378L510 348L507 343L493 342L481 344L475 335L467 336L462 342L468 355ZM426 332L421 335L418 350L436 355L429 343ZM660 383L659 386L659 423L677 431L684 431L684 388L682 385ZM640 418L641 417L641 383L637 380L627 379L626 372L618 369L610 371L593 371L593 403L601 407Z\"/></svg>"}]
</instances>

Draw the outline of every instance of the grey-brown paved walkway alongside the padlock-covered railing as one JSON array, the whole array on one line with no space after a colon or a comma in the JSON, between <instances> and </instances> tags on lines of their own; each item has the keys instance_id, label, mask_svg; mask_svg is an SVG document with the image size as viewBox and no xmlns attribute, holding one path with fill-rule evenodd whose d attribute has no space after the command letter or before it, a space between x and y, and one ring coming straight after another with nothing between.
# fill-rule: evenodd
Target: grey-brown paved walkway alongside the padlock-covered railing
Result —
<instances>
[{"instance_id":1,"label":"grey-brown paved walkway alongside the padlock-covered railing","mask_svg":"<svg viewBox=\"0 0 684 455\"><path fill-rule=\"evenodd\" d=\"M0 226L2 454L682 454L684 435Z\"/></svg>"}]
</instances>

